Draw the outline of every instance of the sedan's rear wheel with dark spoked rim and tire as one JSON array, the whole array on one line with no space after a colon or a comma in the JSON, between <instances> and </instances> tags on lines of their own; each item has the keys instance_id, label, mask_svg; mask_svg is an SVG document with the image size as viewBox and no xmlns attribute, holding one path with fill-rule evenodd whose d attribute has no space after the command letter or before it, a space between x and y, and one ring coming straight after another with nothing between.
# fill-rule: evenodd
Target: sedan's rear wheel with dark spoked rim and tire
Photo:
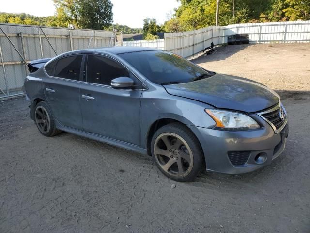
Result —
<instances>
[{"instance_id":1,"label":"sedan's rear wheel with dark spoked rim and tire","mask_svg":"<svg viewBox=\"0 0 310 233\"><path fill-rule=\"evenodd\" d=\"M34 122L40 133L52 137L62 131L55 126L54 115L46 101L38 102L34 110Z\"/></svg>"}]
</instances>

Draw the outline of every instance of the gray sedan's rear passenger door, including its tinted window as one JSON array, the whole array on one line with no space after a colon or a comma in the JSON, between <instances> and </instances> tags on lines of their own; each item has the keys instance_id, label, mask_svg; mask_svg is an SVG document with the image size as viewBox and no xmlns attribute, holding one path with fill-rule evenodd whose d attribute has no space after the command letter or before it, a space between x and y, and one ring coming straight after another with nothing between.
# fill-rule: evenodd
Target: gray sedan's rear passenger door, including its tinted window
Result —
<instances>
[{"instance_id":1,"label":"gray sedan's rear passenger door, including its tinted window","mask_svg":"<svg viewBox=\"0 0 310 233\"><path fill-rule=\"evenodd\" d=\"M70 55L48 64L44 92L56 119L63 125L82 129L79 86L84 55Z\"/></svg>"}]
</instances>

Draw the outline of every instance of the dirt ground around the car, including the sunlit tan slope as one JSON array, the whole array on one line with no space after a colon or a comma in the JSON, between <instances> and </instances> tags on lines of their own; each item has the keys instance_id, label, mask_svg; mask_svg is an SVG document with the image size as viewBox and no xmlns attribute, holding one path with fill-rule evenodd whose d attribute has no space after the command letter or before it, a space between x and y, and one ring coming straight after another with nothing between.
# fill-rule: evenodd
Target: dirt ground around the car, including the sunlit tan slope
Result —
<instances>
[{"instance_id":1,"label":"dirt ground around the car, including the sunlit tan slope","mask_svg":"<svg viewBox=\"0 0 310 233\"><path fill-rule=\"evenodd\" d=\"M286 106L290 135L271 166L177 183L151 157L44 137L24 98L0 101L0 233L310 233L310 44L216 50L194 62L262 82Z\"/></svg>"}]
</instances>

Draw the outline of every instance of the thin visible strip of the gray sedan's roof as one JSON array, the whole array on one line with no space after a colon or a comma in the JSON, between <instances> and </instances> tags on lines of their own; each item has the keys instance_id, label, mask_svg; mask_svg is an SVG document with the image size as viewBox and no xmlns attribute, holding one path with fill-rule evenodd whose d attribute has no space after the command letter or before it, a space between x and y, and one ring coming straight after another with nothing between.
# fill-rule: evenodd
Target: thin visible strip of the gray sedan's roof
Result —
<instances>
[{"instance_id":1,"label":"thin visible strip of the gray sedan's roof","mask_svg":"<svg viewBox=\"0 0 310 233\"><path fill-rule=\"evenodd\" d=\"M160 50L156 48L148 47L135 47L135 46L114 46L114 47L102 47L86 50L76 50L72 52L109 52L114 54L129 53L129 52L140 52L140 51L149 51L149 50Z\"/></svg>"}]
</instances>

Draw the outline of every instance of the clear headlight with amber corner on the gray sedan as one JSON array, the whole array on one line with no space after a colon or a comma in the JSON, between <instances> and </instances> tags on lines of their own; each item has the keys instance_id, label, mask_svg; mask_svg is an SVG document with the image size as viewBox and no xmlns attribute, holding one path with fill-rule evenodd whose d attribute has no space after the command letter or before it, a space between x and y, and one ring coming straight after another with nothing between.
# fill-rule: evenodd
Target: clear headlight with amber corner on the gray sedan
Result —
<instances>
[{"instance_id":1,"label":"clear headlight with amber corner on the gray sedan","mask_svg":"<svg viewBox=\"0 0 310 233\"><path fill-rule=\"evenodd\" d=\"M259 124L250 116L217 109L205 109L209 116L216 122L219 130L248 130L260 128Z\"/></svg>"}]
</instances>

